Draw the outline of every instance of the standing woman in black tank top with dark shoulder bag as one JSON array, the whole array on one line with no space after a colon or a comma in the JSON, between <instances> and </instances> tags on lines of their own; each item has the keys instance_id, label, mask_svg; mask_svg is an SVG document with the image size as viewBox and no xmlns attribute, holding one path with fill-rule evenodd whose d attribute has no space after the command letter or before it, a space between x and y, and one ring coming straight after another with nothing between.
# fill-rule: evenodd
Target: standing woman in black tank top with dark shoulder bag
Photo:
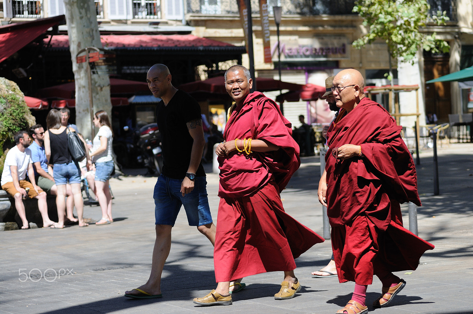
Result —
<instances>
[{"instance_id":1,"label":"standing woman in black tank top with dark shoulder bag","mask_svg":"<svg viewBox=\"0 0 473 314\"><path fill-rule=\"evenodd\" d=\"M69 182L72 190L70 197L74 198L74 204L77 210L77 218L79 219L79 227L88 226L82 217L84 211L84 201L82 200L82 192L80 190L80 168L77 162L72 160L68 149L67 132L72 129L61 125L61 113L59 110L52 109L46 116L48 131L44 133L44 151L49 164L53 165L54 183L57 187L56 205L58 209L58 222L54 223L51 228L63 228L64 216L66 212L66 184ZM73 130L72 130L73 131ZM81 136L79 138L82 139ZM85 142L84 142L85 144ZM87 160L90 157L87 154Z\"/></svg>"}]
</instances>

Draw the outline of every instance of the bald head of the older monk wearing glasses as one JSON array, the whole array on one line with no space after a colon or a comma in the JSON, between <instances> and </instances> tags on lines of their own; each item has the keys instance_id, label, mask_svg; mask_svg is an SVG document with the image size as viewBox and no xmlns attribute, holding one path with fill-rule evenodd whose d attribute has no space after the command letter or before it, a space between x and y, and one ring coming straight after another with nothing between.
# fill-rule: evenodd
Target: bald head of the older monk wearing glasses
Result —
<instances>
[{"instance_id":1,"label":"bald head of the older monk wearing glasses","mask_svg":"<svg viewBox=\"0 0 473 314\"><path fill-rule=\"evenodd\" d=\"M335 75L333 87L337 107L345 108L347 112L350 112L365 97L363 91L365 80L355 69L342 70Z\"/></svg>"}]
</instances>

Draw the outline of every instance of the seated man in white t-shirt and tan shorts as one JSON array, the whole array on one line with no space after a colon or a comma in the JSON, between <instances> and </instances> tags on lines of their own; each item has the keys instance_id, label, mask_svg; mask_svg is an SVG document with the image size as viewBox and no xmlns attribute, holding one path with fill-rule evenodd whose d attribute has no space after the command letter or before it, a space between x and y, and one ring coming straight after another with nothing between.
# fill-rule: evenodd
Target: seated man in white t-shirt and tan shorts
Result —
<instances>
[{"instance_id":1,"label":"seated man in white t-shirt and tan shorts","mask_svg":"<svg viewBox=\"0 0 473 314\"><path fill-rule=\"evenodd\" d=\"M5 159L3 173L1 175L1 188L15 198L15 207L23 222L21 229L29 229L22 197L35 198L38 200L38 209L43 217L43 227L49 227L54 224L54 221L49 219L48 216L46 192L41 190L35 182L31 150L27 148L30 145L28 132L17 132L15 134L15 143L17 145L9 150ZM26 172L28 172L28 178L31 183L25 180ZM29 189L29 192L26 192L25 189Z\"/></svg>"}]
</instances>

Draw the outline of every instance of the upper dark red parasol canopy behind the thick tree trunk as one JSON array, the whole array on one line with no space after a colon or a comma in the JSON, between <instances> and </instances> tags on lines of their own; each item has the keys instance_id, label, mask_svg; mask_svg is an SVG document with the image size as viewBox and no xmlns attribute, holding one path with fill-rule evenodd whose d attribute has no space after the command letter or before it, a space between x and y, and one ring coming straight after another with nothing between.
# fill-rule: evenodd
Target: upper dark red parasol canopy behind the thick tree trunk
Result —
<instances>
[{"instance_id":1,"label":"upper dark red parasol canopy behind the thick tree trunk","mask_svg":"<svg viewBox=\"0 0 473 314\"><path fill-rule=\"evenodd\" d=\"M136 94L137 92L142 91L149 92L148 83L120 78L110 78L110 94ZM76 96L76 83L70 82L66 84L42 88L38 90L36 95L42 98L74 98Z\"/></svg>"}]
</instances>

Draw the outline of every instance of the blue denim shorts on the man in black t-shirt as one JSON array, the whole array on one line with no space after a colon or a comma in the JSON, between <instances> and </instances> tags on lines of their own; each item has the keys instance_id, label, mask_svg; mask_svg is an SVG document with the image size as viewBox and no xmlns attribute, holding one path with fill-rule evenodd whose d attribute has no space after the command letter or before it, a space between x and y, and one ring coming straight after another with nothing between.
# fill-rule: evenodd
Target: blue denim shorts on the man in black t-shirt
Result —
<instances>
[{"instance_id":1,"label":"blue denim shorts on the man in black t-shirt","mask_svg":"<svg viewBox=\"0 0 473 314\"><path fill-rule=\"evenodd\" d=\"M158 177L153 194L156 224L174 227L182 205L184 205L189 226L210 224L212 216L205 176L195 177L194 189L185 196L182 196L181 184L182 180L179 179L171 179L162 174Z\"/></svg>"}]
</instances>

